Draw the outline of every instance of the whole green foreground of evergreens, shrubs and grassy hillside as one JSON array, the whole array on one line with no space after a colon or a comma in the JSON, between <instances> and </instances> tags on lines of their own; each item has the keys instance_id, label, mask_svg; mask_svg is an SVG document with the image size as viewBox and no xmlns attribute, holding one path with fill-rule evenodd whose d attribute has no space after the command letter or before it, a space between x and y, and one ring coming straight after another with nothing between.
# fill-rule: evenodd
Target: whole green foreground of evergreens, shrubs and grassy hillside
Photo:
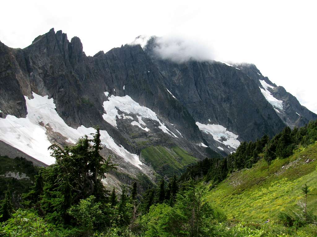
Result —
<instances>
[{"instance_id":1,"label":"whole green foreground of evergreens, shrubs and grassy hillside","mask_svg":"<svg viewBox=\"0 0 317 237\"><path fill-rule=\"evenodd\" d=\"M48 167L1 156L1 174L11 162L31 178L0 176L0 236L317 236L317 120L243 142L142 193L138 182L106 189L117 166L100 155L99 129L91 135L50 146Z\"/></svg>"}]
</instances>

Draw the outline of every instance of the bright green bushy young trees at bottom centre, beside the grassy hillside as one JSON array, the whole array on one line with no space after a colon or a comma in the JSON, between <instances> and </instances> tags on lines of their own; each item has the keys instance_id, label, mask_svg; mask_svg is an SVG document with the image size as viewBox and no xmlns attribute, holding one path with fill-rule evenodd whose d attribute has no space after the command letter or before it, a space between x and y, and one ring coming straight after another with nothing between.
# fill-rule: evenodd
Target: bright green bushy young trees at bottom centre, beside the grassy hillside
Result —
<instances>
[{"instance_id":1,"label":"bright green bushy young trees at bottom centre, beside the grassy hillside","mask_svg":"<svg viewBox=\"0 0 317 237\"><path fill-rule=\"evenodd\" d=\"M204 186L193 180L184 184L173 207L163 203L151 206L139 222L145 236L211 236L213 209L204 199Z\"/></svg>"}]
</instances>

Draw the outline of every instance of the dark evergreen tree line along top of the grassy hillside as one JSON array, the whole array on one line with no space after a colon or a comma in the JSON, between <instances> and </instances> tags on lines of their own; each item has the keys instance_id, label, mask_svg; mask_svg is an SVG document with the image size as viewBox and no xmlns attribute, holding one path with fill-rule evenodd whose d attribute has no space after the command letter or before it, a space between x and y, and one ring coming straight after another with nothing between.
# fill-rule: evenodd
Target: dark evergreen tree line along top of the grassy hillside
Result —
<instances>
[{"instance_id":1,"label":"dark evergreen tree line along top of the grassy hillside","mask_svg":"<svg viewBox=\"0 0 317 237\"><path fill-rule=\"evenodd\" d=\"M197 164L187 167L180 180L203 178L214 185L224 180L229 173L243 168L251 168L261 156L270 163L276 158L286 158L299 146L307 146L317 141L317 120L308 125L291 130L285 127L270 139L264 135L255 142L242 142L236 152L225 158L205 158Z\"/></svg>"}]
</instances>

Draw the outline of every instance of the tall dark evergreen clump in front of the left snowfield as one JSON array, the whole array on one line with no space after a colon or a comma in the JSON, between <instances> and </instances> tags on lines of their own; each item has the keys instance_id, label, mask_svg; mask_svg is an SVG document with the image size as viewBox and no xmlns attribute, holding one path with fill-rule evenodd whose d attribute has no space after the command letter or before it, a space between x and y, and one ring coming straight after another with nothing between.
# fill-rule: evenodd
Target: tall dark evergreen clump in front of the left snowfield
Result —
<instances>
[{"instance_id":1,"label":"tall dark evergreen clump in front of the left snowfield","mask_svg":"<svg viewBox=\"0 0 317 237\"><path fill-rule=\"evenodd\" d=\"M39 200L39 209L53 222L64 220L68 223L68 208L91 195L94 195L96 202L107 201L108 191L101 183L101 179L115 166L110 158L104 159L99 154L99 129L92 135L92 140L85 136L78 139L72 147L62 149L57 145L50 146L56 163L41 171L44 184L42 195L36 197L34 190L27 195L31 202L32 199ZM93 146L89 143L93 143Z\"/></svg>"}]
</instances>

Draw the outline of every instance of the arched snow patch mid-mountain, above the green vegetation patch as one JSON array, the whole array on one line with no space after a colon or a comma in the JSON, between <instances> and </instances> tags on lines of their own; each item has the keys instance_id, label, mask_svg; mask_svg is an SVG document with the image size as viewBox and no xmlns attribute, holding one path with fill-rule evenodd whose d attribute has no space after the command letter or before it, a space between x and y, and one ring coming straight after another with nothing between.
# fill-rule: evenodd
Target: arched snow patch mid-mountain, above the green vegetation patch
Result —
<instances>
[{"instance_id":1,"label":"arched snow patch mid-mountain, above the green vegetation patch","mask_svg":"<svg viewBox=\"0 0 317 237\"><path fill-rule=\"evenodd\" d=\"M106 94L107 92L105 92ZM153 112L151 109L140 106L139 103L135 102L130 96L114 96L111 95L108 97L108 100L103 102L103 107L106 111L106 114L103 114L102 117L105 119L109 124L113 125L113 127L117 127L116 118L119 117L118 109L122 112L125 112L127 114L133 113L137 114L139 124L143 124L146 126L146 123L142 121L142 118L152 119L154 121L159 122L159 129L161 129L163 132L172 135L174 137L177 137L174 133L172 133L164 123L161 123L161 121L158 119L155 112ZM136 124L134 124L136 125Z\"/></svg>"}]
</instances>

